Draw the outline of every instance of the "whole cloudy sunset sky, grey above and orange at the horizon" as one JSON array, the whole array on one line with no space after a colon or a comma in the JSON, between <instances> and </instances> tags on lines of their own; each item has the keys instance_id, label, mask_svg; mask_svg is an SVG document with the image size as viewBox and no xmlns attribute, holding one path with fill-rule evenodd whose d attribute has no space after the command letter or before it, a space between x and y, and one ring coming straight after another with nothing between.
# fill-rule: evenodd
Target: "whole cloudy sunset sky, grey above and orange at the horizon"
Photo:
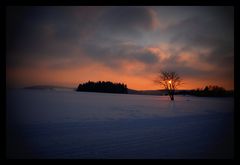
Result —
<instances>
[{"instance_id":1,"label":"whole cloudy sunset sky, grey above and orange at the horizon","mask_svg":"<svg viewBox=\"0 0 240 165\"><path fill-rule=\"evenodd\" d=\"M112 81L161 89L175 71L179 89L234 89L231 6L9 6L8 87Z\"/></svg>"}]
</instances>

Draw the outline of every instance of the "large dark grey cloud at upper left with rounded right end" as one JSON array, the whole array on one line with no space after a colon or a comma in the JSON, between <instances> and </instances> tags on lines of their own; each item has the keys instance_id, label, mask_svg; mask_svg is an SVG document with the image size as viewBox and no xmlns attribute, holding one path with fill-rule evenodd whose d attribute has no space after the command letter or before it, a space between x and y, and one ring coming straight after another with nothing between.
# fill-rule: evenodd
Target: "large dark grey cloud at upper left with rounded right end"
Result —
<instances>
[{"instance_id":1,"label":"large dark grey cloud at upper left with rounded right end","mask_svg":"<svg viewBox=\"0 0 240 165\"><path fill-rule=\"evenodd\" d=\"M116 58L114 54L121 56L121 50L114 53L114 45L110 44L109 52L99 44L108 36L115 37L109 29L129 34L137 29L153 29L154 21L153 12L146 7L9 7L7 64L24 64L25 58L69 58L75 47L89 49L93 57L100 54L101 58ZM136 59L149 63L153 57L140 53Z\"/></svg>"}]
</instances>

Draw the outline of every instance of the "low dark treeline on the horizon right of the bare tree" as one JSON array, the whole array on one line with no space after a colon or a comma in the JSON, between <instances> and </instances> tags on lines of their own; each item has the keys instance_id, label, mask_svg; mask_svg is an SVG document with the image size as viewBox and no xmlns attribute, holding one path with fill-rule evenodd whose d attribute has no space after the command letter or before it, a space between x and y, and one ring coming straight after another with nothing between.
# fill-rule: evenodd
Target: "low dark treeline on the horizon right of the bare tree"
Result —
<instances>
[{"instance_id":1,"label":"low dark treeline on the horizon right of the bare tree","mask_svg":"<svg viewBox=\"0 0 240 165\"><path fill-rule=\"evenodd\" d=\"M233 96L233 91L227 91L223 87L219 87L217 85L209 85L205 86L205 88L198 88L190 91L181 91L176 94L188 94L193 96L200 96L200 97L228 97Z\"/></svg>"}]
</instances>

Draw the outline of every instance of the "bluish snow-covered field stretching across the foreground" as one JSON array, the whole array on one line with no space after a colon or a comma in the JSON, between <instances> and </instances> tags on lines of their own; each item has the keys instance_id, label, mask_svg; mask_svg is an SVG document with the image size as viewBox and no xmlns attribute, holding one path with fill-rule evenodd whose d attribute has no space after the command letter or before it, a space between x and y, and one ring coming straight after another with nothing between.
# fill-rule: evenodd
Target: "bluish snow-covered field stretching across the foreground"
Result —
<instances>
[{"instance_id":1,"label":"bluish snow-covered field stretching across the foreground","mask_svg":"<svg viewBox=\"0 0 240 165\"><path fill-rule=\"evenodd\" d=\"M233 98L7 91L8 158L233 158Z\"/></svg>"}]
</instances>

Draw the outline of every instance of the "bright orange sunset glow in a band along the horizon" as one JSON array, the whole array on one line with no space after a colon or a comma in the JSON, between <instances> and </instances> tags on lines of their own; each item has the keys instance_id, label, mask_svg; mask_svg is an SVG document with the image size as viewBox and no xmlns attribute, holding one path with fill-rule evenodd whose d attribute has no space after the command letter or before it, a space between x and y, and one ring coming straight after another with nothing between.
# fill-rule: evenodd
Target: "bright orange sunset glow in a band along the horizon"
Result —
<instances>
[{"instance_id":1,"label":"bright orange sunset glow in a band along the horizon","mask_svg":"<svg viewBox=\"0 0 240 165\"><path fill-rule=\"evenodd\" d=\"M101 68L101 69L99 69ZM159 84L154 83L155 75L133 76L131 68L126 66L126 72L113 71L107 67L94 64L83 68L72 68L64 70L38 69L7 69L6 83L8 86L25 87L32 85L59 85L66 87L77 87L79 83L91 81L112 81L127 84L128 88L135 90L157 90L163 89ZM130 69L130 70L129 70ZM26 81L27 80L27 81ZM217 83L216 83L217 82ZM169 80L171 83L171 80ZM218 85L227 90L234 89L233 81L223 79L190 79L183 77L183 85L177 89L204 88L206 85Z\"/></svg>"}]
</instances>

